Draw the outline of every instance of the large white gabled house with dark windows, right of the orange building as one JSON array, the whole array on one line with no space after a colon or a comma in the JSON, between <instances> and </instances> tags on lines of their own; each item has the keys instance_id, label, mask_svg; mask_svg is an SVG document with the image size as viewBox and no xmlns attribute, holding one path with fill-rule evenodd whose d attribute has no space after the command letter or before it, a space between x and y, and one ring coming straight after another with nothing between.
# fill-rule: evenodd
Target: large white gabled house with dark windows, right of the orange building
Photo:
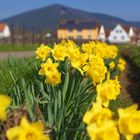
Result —
<instances>
[{"instance_id":1,"label":"large white gabled house with dark windows, right of the orange building","mask_svg":"<svg viewBox=\"0 0 140 140\"><path fill-rule=\"evenodd\" d=\"M132 35L132 29L130 30L130 36ZM110 43L129 43L131 41L127 31L118 24L113 30L111 30L108 41Z\"/></svg>"}]
</instances>

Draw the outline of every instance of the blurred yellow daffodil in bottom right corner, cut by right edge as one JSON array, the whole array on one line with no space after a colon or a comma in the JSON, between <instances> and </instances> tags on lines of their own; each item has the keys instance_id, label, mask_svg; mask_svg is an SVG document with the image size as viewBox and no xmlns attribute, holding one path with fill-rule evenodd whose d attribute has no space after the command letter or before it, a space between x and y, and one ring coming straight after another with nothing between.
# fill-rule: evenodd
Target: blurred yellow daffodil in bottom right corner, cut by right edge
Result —
<instances>
[{"instance_id":1,"label":"blurred yellow daffodil in bottom right corner, cut by right edge","mask_svg":"<svg viewBox=\"0 0 140 140\"><path fill-rule=\"evenodd\" d=\"M140 134L140 110L136 104L125 109L119 109L119 130L127 140L132 140L134 134Z\"/></svg>"}]
</instances>

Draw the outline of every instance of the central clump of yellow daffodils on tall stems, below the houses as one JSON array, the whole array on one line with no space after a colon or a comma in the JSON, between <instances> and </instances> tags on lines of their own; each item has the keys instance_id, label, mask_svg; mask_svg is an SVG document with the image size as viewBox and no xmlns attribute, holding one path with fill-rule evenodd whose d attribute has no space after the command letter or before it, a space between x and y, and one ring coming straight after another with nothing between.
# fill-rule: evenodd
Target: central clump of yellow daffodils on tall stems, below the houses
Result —
<instances>
[{"instance_id":1,"label":"central clump of yellow daffodils on tall stems, below the houses","mask_svg":"<svg viewBox=\"0 0 140 140\"><path fill-rule=\"evenodd\" d=\"M43 52L44 49L44 52ZM62 41L55 44L51 49L41 45L37 51L37 58L43 61L40 75L46 77L45 82L51 85L61 83L61 73L58 71L60 61L68 59L71 66L77 69L82 75L90 77L93 84L101 83L107 74L107 67L104 59L115 59L118 53L116 46L100 42L89 42L78 47L73 41ZM112 61L111 68L115 63Z\"/></svg>"}]
</instances>

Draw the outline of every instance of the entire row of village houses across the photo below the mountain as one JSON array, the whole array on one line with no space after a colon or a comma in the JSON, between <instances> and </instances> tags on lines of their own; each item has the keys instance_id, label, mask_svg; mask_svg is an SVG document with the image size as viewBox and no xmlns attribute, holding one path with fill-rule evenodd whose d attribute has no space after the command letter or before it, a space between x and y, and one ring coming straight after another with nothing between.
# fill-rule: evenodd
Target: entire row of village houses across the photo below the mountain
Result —
<instances>
[{"instance_id":1,"label":"entire row of village houses across the photo below the mountain","mask_svg":"<svg viewBox=\"0 0 140 140\"><path fill-rule=\"evenodd\" d=\"M0 23L0 40L6 40L13 38L13 29L6 23ZM21 33L21 34L20 34ZM35 36L31 31L22 30L18 35L14 37L23 38L26 42L30 34L32 36L32 42L35 41ZM44 32L39 38L56 38L72 39L72 40L99 40L102 42L108 42L111 44L132 44L140 46L140 29L132 26L124 26L121 24L115 25L112 29L106 28L104 25L100 25L93 21L61 21L57 28L56 33ZM23 41L22 41L23 42Z\"/></svg>"}]
</instances>

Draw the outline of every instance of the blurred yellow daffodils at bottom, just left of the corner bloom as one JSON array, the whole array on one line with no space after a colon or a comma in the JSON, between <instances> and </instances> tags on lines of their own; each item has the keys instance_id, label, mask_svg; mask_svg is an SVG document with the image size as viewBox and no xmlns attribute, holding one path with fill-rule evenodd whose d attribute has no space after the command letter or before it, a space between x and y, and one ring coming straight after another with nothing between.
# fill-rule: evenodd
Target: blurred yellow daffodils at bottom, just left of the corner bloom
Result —
<instances>
[{"instance_id":1,"label":"blurred yellow daffodils at bottom, just left of the corner bloom","mask_svg":"<svg viewBox=\"0 0 140 140\"><path fill-rule=\"evenodd\" d=\"M87 132L92 140L119 140L117 122L112 119L113 113L102 107L99 102L93 103L84 115L83 121L88 124Z\"/></svg>"}]
</instances>

